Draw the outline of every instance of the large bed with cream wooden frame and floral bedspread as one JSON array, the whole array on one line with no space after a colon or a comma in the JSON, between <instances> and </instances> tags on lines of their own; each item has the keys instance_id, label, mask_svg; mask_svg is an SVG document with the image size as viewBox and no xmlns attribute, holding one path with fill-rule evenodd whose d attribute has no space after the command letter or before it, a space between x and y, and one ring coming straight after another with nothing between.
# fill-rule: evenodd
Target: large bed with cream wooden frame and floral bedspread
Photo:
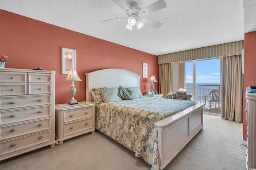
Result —
<instances>
[{"instance_id":1,"label":"large bed with cream wooden frame and floral bedspread","mask_svg":"<svg viewBox=\"0 0 256 170\"><path fill-rule=\"evenodd\" d=\"M95 100L95 89L102 92L109 90L112 94L116 92L115 88L136 90L140 87L140 76L128 70L109 68L85 75L86 101ZM101 94L104 100L108 100L108 95ZM98 102L97 99L95 128L134 151L136 157L141 156L152 165L151 170L164 169L203 128L204 104L140 96L127 100L127 106L126 100ZM145 100L147 106L142 106ZM176 106L175 102L182 103L182 107L186 108L174 107L175 114L170 113L172 108L169 106ZM153 109L153 105L158 107Z\"/></svg>"}]
</instances>

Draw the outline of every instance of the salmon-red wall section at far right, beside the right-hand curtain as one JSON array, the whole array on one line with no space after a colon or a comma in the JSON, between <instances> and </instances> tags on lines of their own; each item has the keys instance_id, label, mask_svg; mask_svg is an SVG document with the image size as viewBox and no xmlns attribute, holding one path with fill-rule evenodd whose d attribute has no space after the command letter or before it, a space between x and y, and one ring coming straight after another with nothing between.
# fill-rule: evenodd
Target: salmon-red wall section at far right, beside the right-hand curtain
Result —
<instances>
[{"instance_id":1,"label":"salmon-red wall section at far right, beside the right-hand curtain","mask_svg":"<svg viewBox=\"0 0 256 170\"><path fill-rule=\"evenodd\" d=\"M243 140L246 141L246 87L256 86L256 31L244 34L244 133Z\"/></svg>"}]
</instances>

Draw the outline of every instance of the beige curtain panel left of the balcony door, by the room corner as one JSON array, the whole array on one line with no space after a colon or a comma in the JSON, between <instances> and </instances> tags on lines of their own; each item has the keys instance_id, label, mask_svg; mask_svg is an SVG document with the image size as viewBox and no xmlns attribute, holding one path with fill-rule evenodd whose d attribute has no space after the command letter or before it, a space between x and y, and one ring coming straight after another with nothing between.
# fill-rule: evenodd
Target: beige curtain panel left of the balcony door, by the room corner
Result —
<instances>
[{"instance_id":1,"label":"beige curtain panel left of the balcony door, by the room corner","mask_svg":"<svg viewBox=\"0 0 256 170\"><path fill-rule=\"evenodd\" d=\"M172 92L172 63L159 65L159 93L167 98L167 93Z\"/></svg>"}]
</instances>

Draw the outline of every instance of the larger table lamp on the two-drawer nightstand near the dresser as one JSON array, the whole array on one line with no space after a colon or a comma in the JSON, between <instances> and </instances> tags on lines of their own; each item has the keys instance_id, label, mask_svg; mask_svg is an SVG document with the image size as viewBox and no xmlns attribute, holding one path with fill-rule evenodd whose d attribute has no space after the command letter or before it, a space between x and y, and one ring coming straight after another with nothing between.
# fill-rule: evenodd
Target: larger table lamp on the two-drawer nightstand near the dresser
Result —
<instances>
[{"instance_id":1,"label":"larger table lamp on the two-drawer nightstand near the dresser","mask_svg":"<svg viewBox=\"0 0 256 170\"><path fill-rule=\"evenodd\" d=\"M72 81L72 84L70 85L70 89L69 89L72 99L68 101L68 104L78 104L77 100L74 99L74 96L76 93L76 88L74 87L75 86L74 81L82 81L82 80L78 77L76 70L73 70L73 68L71 70L68 70L68 76L64 81Z\"/></svg>"}]
</instances>

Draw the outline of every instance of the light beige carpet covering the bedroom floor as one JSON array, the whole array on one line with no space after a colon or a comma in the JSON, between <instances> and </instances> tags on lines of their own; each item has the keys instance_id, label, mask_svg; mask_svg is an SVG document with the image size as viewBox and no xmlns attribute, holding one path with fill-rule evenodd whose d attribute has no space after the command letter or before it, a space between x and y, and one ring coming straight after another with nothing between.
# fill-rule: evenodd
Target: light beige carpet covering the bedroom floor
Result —
<instances>
[{"instance_id":1,"label":"light beige carpet covering the bedroom floor","mask_svg":"<svg viewBox=\"0 0 256 170\"><path fill-rule=\"evenodd\" d=\"M164 170L244 170L242 123L204 114L204 128ZM134 152L96 131L0 161L1 170L149 170Z\"/></svg>"}]
</instances>

